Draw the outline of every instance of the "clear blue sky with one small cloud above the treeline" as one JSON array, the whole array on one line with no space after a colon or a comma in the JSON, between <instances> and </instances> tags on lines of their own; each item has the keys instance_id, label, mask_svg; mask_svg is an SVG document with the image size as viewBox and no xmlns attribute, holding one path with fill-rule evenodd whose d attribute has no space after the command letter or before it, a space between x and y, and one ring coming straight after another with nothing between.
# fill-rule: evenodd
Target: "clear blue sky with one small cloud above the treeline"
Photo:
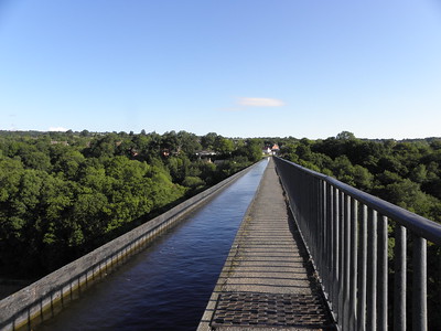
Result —
<instances>
[{"instance_id":1,"label":"clear blue sky with one small cloud above the treeline","mask_svg":"<svg viewBox=\"0 0 441 331\"><path fill-rule=\"evenodd\" d=\"M0 129L441 137L438 0L0 0Z\"/></svg>"}]
</instances>

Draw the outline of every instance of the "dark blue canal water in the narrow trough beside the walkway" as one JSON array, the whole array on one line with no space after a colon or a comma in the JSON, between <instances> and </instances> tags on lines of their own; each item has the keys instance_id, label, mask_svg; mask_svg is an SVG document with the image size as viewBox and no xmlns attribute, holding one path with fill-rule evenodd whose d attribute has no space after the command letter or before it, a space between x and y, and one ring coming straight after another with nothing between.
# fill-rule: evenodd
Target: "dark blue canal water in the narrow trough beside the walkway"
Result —
<instances>
[{"instance_id":1,"label":"dark blue canal water in the narrow trough beside the walkway","mask_svg":"<svg viewBox=\"0 0 441 331\"><path fill-rule=\"evenodd\" d=\"M36 330L195 330L268 161Z\"/></svg>"}]
</instances>

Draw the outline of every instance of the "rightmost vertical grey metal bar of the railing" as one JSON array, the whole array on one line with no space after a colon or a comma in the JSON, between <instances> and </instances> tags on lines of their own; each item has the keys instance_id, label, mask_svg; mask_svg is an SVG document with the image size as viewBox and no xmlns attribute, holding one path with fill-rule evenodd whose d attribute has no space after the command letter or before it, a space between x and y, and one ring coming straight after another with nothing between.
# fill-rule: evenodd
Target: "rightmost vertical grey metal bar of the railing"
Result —
<instances>
[{"instance_id":1,"label":"rightmost vertical grey metal bar of the railing","mask_svg":"<svg viewBox=\"0 0 441 331\"><path fill-rule=\"evenodd\" d=\"M413 330L426 331L427 321L427 241L413 236L412 324Z\"/></svg>"}]
</instances>

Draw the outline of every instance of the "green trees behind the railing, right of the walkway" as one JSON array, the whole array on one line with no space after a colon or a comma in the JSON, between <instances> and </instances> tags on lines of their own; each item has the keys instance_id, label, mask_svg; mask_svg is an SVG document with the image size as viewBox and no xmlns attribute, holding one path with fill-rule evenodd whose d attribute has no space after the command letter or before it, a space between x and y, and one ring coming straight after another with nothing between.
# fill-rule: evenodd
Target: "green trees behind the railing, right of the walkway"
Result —
<instances>
[{"instance_id":1,"label":"green trees behind the railing, right of the walkway","mask_svg":"<svg viewBox=\"0 0 441 331\"><path fill-rule=\"evenodd\" d=\"M325 140L290 139L282 157L413 211L440 220L441 140L361 140L343 131Z\"/></svg>"}]
</instances>

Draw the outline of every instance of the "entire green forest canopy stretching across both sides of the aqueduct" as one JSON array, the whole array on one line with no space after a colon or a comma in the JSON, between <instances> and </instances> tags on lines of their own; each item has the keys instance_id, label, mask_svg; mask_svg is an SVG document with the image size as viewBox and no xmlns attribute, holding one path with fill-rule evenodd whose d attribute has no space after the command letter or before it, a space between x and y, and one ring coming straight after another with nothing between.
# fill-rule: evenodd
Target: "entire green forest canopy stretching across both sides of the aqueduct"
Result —
<instances>
[{"instance_id":1,"label":"entire green forest canopy stretching across both sides of the aqueduct","mask_svg":"<svg viewBox=\"0 0 441 331\"><path fill-rule=\"evenodd\" d=\"M441 222L441 139L0 131L0 277L34 278L219 182L282 158Z\"/></svg>"}]
</instances>

